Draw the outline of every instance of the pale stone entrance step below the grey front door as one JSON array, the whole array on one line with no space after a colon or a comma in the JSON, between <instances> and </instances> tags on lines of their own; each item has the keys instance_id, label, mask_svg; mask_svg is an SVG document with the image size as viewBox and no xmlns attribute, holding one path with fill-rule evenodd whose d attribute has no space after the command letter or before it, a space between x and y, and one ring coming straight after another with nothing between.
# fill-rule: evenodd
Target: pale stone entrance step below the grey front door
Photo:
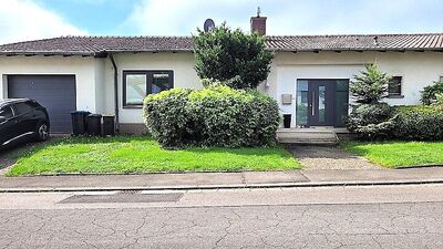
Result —
<instances>
[{"instance_id":1,"label":"pale stone entrance step below the grey front door","mask_svg":"<svg viewBox=\"0 0 443 249\"><path fill-rule=\"evenodd\" d=\"M281 128L277 131L280 144L336 145L338 137L331 129Z\"/></svg>"}]
</instances>

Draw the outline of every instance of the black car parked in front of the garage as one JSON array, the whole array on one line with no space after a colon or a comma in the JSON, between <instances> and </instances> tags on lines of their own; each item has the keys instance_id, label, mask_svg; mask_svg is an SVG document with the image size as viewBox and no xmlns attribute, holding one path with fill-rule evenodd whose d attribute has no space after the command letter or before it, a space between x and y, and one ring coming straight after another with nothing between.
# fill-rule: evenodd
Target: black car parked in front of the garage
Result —
<instances>
[{"instance_id":1,"label":"black car parked in front of the garage","mask_svg":"<svg viewBox=\"0 0 443 249\"><path fill-rule=\"evenodd\" d=\"M29 98L0 100L0 147L49 138L48 111Z\"/></svg>"}]
</instances>

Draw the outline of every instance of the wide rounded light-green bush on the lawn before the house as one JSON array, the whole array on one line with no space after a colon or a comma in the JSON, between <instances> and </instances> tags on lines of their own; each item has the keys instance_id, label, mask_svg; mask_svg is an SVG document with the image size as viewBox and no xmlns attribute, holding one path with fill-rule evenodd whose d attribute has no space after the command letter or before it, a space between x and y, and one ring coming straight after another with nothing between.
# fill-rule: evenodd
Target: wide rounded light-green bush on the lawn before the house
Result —
<instances>
[{"instance_id":1,"label":"wide rounded light-green bush on the lawn before the house","mask_svg":"<svg viewBox=\"0 0 443 249\"><path fill-rule=\"evenodd\" d=\"M267 146L276 143L278 104L255 90L171 90L144 101L144 122L165 147Z\"/></svg>"}]
</instances>

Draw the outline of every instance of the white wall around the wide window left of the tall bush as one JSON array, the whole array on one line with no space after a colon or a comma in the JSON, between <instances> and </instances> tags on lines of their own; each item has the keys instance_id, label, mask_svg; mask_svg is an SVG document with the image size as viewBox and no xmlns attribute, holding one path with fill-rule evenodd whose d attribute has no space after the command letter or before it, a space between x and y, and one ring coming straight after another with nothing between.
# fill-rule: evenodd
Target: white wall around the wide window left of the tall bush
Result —
<instances>
[{"instance_id":1,"label":"white wall around the wide window left of the tall bush","mask_svg":"<svg viewBox=\"0 0 443 249\"><path fill-rule=\"evenodd\" d=\"M121 126L142 123L142 108L123 107L123 71L126 70L172 70L174 87L203 87L194 70L193 53L119 53L114 54L119 69L119 112ZM114 71L111 61L105 63L105 111L114 113ZM131 125L130 125L131 126ZM132 126L131 126L132 127Z\"/></svg>"}]
</instances>

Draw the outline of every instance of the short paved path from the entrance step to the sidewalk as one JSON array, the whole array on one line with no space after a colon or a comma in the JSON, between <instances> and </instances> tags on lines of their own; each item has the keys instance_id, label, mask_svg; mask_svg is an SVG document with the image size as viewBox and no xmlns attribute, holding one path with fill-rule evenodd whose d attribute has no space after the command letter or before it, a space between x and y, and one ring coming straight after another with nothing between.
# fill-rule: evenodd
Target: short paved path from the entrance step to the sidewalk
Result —
<instances>
[{"instance_id":1,"label":"short paved path from the entrance step to the sidewalk","mask_svg":"<svg viewBox=\"0 0 443 249\"><path fill-rule=\"evenodd\" d=\"M365 158L336 146L293 146L290 151L305 170L311 169L383 169Z\"/></svg>"}]
</instances>

